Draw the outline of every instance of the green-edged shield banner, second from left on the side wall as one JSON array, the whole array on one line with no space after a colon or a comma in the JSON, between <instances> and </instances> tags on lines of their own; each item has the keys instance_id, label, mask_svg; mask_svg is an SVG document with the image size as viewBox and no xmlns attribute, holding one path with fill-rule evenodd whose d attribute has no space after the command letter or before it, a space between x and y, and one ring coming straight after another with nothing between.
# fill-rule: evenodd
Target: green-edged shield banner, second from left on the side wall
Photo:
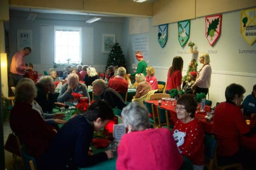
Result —
<instances>
[{"instance_id":1,"label":"green-edged shield banner, second from left on the side wall","mask_svg":"<svg viewBox=\"0 0 256 170\"><path fill-rule=\"evenodd\" d=\"M183 47L189 39L190 35L190 20L178 22L178 40Z\"/></svg>"}]
</instances>

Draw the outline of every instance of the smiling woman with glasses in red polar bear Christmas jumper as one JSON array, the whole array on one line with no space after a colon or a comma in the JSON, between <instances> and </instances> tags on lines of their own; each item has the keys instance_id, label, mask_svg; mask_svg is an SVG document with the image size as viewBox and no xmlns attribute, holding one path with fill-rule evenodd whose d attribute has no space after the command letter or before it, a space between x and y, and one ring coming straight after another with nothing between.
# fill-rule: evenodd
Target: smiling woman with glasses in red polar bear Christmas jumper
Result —
<instances>
[{"instance_id":1,"label":"smiling woman with glasses in red polar bear Christmas jumper","mask_svg":"<svg viewBox=\"0 0 256 170\"><path fill-rule=\"evenodd\" d=\"M194 118L196 107L192 94L184 94L178 98L175 107L178 121L172 133L180 153L192 161L194 170L203 170L204 129L200 121Z\"/></svg>"}]
</instances>

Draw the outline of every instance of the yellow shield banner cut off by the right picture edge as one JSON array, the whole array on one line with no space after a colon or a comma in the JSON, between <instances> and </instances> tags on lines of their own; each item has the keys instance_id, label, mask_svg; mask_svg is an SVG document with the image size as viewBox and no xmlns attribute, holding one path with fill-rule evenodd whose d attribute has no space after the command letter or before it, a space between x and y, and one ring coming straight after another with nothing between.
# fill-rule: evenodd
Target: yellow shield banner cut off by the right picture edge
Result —
<instances>
[{"instance_id":1,"label":"yellow shield banner cut off by the right picture edge","mask_svg":"<svg viewBox=\"0 0 256 170\"><path fill-rule=\"evenodd\" d=\"M252 45L256 41L256 8L241 11L240 31L245 41Z\"/></svg>"}]
</instances>

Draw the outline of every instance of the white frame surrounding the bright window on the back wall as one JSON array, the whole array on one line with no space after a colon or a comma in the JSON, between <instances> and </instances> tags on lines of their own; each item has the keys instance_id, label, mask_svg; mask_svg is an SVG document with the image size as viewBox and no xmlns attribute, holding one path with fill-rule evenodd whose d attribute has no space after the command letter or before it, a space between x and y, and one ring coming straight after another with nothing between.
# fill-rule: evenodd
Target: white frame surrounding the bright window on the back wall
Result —
<instances>
[{"instance_id":1,"label":"white frame surrounding the bright window on the back wall","mask_svg":"<svg viewBox=\"0 0 256 170\"><path fill-rule=\"evenodd\" d=\"M54 62L59 64L73 64L74 62L68 63L67 61L66 63L62 63L62 62L56 61L56 35L55 35L56 29L72 29L72 30L79 31L79 34L80 34L79 60L80 60L80 63L82 63L82 27L54 26ZM80 63L74 63L74 64L80 64Z\"/></svg>"}]
</instances>

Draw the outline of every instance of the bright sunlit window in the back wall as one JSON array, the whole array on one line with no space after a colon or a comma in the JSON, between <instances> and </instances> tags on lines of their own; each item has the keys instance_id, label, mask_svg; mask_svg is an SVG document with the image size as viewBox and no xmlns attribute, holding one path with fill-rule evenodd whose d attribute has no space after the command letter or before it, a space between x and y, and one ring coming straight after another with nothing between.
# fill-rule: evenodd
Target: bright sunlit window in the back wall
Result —
<instances>
[{"instance_id":1,"label":"bright sunlit window in the back wall","mask_svg":"<svg viewBox=\"0 0 256 170\"><path fill-rule=\"evenodd\" d=\"M80 27L54 27L54 62L80 64L82 62Z\"/></svg>"}]
</instances>

